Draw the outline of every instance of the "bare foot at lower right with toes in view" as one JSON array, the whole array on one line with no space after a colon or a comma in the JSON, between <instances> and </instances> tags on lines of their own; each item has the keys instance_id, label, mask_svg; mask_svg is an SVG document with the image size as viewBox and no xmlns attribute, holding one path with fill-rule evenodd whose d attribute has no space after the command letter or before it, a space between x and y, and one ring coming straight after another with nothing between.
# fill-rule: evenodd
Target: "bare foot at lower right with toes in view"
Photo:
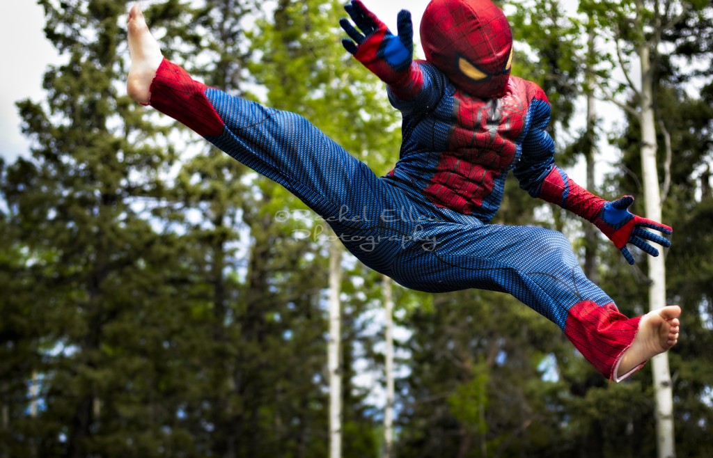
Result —
<instances>
[{"instance_id":1,"label":"bare foot at lower right with toes in view","mask_svg":"<svg viewBox=\"0 0 713 458\"><path fill-rule=\"evenodd\" d=\"M639 331L631 346L622 356L617 376L622 377L637 365L645 363L676 345L680 314L679 306L667 306L642 316L639 322Z\"/></svg>"}]
</instances>

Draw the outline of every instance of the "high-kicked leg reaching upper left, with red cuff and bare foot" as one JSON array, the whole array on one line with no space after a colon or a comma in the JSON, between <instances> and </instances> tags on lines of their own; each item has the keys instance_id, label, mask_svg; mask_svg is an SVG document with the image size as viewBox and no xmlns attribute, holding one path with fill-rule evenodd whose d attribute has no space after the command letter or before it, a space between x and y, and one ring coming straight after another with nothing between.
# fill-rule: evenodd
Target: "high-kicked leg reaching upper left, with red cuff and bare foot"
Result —
<instances>
[{"instance_id":1,"label":"high-kicked leg reaching upper left, with red cuff and bare foot","mask_svg":"<svg viewBox=\"0 0 713 458\"><path fill-rule=\"evenodd\" d=\"M134 100L180 121L282 184L324 218L364 264L389 273L404 235L396 227L399 222L389 224L389 219L413 213L413 202L403 192L301 115L210 88L165 60L138 6L129 15L129 41L133 61L127 87Z\"/></svg>"}]
</instances>

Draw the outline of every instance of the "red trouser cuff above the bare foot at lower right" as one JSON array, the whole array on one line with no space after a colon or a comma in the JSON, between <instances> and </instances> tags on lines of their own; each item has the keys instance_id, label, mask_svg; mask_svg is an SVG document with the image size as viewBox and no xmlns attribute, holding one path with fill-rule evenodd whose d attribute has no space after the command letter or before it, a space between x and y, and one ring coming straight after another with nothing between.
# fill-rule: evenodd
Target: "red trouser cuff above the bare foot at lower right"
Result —
<instances>
[{"instance_id":1,"label":"red trouser cuff above the bare foot at lower right","mask_svg":"<svg viewBox=\"0 0 713 458\"><path fill-rule=\"evenodd\" d=\"M623 380L642 368L617 377L619 360L634 341L641 317L627 318L613 303L597 306L583 301L570 308L565 335L580 353L610 380Z\"/></svg>"}]
</instances>

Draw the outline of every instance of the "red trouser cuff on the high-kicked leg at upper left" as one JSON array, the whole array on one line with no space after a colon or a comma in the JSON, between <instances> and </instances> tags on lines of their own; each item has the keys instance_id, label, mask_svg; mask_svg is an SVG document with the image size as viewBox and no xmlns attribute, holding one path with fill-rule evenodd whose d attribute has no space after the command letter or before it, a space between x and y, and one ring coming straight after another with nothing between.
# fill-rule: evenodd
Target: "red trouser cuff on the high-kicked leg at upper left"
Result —
<instances>
[{"instance_id":1,"label":"red trouser cuff on the high-kicked leg at upper left","mask_svg":"<svg viewBox=\"0 0 713 458\"><path fill-rule=\"evenodd\" d=\"M163 59L151 82L149 105L203 137L217 136L225 125L205 98L206 88L183 68Z\"/></svg>"}]
</instances>

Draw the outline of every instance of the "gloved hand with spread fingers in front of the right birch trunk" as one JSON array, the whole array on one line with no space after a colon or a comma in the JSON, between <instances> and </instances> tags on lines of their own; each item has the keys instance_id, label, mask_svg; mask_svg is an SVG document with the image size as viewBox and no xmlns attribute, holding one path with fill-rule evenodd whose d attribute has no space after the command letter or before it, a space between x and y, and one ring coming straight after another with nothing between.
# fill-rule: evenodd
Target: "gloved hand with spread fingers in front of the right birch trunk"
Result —
<instances>
[{"instance_id":1,"label":"gloved hand with spread fingers in front of the right birch trunk","mask_svg":"<svg viewBox=\"0 0 713 458\"><path fill-rule=\"evenodd\" d=\"M671 246L671 241L647 229L661 231L664 234L671 234L673 231L665 224L630 213L628 208L632 202L634 198L631 196L607 202L593 221L595 226L614 242L629 264L634 264L634 256L627 249L627 244L638 246L651 256L658 256L659 251L648 244L647 240L665 248Z\"/></svg>"}]
</instances>

